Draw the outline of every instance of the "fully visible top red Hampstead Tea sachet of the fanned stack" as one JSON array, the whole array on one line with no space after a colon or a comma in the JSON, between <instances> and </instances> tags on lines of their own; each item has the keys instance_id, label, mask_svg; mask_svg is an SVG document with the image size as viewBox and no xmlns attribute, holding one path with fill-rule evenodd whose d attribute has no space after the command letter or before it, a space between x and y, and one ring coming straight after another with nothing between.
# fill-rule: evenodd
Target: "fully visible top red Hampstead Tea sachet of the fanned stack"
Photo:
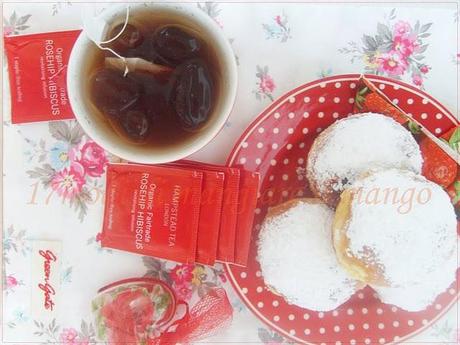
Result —
<instances>
[{"instance_id":1,"label":"fully visible top red Hampstead Tea sachet of the fanned stack","mask_svg":"<svg viewBox=\"0 0 460 345\"><path fill-rule=\"evenodd\" d=\"M109 165L102 246L193 263L202 180L193 170Z\"/></svg>"}]
</instances>

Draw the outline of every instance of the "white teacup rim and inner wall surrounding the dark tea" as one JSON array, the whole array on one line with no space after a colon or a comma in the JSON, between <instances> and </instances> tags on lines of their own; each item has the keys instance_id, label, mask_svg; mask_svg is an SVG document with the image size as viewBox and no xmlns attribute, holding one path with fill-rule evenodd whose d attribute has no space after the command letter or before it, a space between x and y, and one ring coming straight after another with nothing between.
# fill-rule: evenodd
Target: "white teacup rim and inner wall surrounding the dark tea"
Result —
<instances>
[{"instance_id":1,"label":"white teacup rim and inner wall surrounding the dark tea","mask_svg":"<svg viewBox=\"0 0 460 345\"><path fill-rule=\"evenodd\" d=\"M130 17L138 13L151 13L152 16L171 18L180 17L193 27L199 28L207 43L214 49L220 73L218 95L214 100L212 114L206 126L188 141L177 145L155 147L136 145L120 137L100 113L91 104L89 97L89 76L98 47L85 32L78 37L69 59L67 69L67 88L70 104L78 122L84 131L100 146L112 154L132 162L165 163L191 155L208 144L225 124L235 101L237 89L237 67L235 55L221 28L209 16L192 4L131 4ZM103 21L124 22L126 6L114 6L102 14ZM168 22L167 20L165 22Z\"/></svg>"}]
</instances>

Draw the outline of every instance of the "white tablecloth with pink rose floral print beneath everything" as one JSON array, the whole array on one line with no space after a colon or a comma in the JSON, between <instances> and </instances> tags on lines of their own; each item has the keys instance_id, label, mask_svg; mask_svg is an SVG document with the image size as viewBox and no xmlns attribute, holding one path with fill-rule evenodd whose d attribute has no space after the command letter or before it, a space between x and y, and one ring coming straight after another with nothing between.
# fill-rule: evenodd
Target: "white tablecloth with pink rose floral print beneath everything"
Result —
<instances>
[{"instance_id":1,"label":"white tablecloth with pink rose floral print beneath everything","mask_svg":"<svg viewBox=\"0 0 460 345\"><path fill-rule=\"evenodd\" d=\"M108 4L96 6L103 9ZM369 72L402 79L458 114L456 3L208 2L193 6L222 27L239 69L231 117L193 159L225 162L242 131L272 100L331 74ZM80 7L71 2L4 4L4 34L80 28ZM6 63L3 72L6 77ZM242 304L220 266L178 265L101 249L97 233L104 164L117 158L99 149L75 121L12 125L7 80L3 110L4 343L94 344L89 304L97 289L144 275L166 280L184 298L204 294L215 285L226 288L235 311L232 326L206 342L287 342ZM62 247L60 308L49 322L36 320L31 313L29 256L34 240L56 240ZM457 310L452 308L411 341L460 341Z\"/></svg>"}]
</instances>

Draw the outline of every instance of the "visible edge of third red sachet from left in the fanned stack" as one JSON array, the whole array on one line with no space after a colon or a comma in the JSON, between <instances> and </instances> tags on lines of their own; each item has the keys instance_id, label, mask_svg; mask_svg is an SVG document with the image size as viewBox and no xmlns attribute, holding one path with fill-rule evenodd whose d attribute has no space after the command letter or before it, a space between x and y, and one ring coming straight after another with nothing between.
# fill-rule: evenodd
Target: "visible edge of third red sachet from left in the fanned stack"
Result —
<instances>
[{"instance_id":1,"label":"visible edge of third red sachet from left in the fanned stack","mask_svg":"<svg viewBox=\"0 0 460 345\"><path fill-rule=\"evenodd\" d=\"M225 173L224 195L222 201L222 215L219 227L219 240L217 245L217 261L234 262L235 259L235 234L238 216L238 194L240 185L240 170L219 165L179 161L183 166L199 167L211 171Z\"/></svg>"}]
</instances>

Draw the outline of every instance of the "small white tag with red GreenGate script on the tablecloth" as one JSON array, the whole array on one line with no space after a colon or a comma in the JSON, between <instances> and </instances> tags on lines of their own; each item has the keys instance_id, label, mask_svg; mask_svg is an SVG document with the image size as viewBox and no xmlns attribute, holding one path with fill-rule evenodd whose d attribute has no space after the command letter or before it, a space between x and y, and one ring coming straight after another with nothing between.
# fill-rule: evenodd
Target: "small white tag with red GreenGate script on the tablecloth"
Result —
<instances>
[{"instance_id":1,"label":"small white tag with red GreenGate script on the tablecloth","mask_svg":"<svg viewBox=\"0 0 460 345\"><path fill-rule=\"evenodd\" d=\"M56 318L60 305L62 243L30 242L32 318L43 323L50 322Z\"/></svg>"}]
</instances>

